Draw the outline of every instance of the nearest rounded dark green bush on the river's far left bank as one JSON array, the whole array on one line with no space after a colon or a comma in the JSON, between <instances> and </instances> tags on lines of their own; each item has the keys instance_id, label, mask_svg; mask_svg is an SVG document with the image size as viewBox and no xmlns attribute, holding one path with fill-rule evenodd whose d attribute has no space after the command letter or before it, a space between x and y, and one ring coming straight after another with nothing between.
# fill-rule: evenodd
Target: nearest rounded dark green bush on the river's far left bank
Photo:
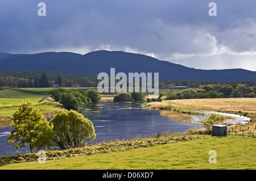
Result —
<instances>
[{"instance_id":1,"label":"nearest rounded dark green bush on the river's far left bank","mask_svg":"<svg viewBox=\"0 0 256 181\"><path fill-rule=\"evenodd\" d=\"M64 92L60 96L60 103L63 104L64 108L67 110L79 110L81 107L81 99L76 98L73 94Z\"/></svg>"}]
</instances>

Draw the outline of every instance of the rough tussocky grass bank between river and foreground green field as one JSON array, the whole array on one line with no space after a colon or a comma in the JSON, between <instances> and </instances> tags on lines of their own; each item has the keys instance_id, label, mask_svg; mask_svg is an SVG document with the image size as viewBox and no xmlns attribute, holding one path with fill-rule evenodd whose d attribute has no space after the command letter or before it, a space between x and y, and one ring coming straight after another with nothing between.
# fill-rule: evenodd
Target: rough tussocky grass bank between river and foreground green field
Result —
<instances>
[{"instance_id":1,"label":"rough tussocky grass bank between river and foreground green field","mask_svg":"<svg viewBox=\"0 0 256 181\"><path fill-rule=\"evenodd\" d=\"M102 142L102 144L88 145L82 148L75 148L69 150L56 150L46 151L47 160L61 159L67 157L79 157L82 155L92 155L100 153L112 153L116 151L131 150L138 148L146 148L149 146L170 144L180 141L197 140L201 138L209 138L207 134L184 134L181 136L175 136L174 134L168 134L158 138L142 138L137 137L129 141L117 140L113 142ZM16 154L0 157L0 166L11 163L24 163L38 161L39 155L37 153Z\"/></svg>"}]
</instances>

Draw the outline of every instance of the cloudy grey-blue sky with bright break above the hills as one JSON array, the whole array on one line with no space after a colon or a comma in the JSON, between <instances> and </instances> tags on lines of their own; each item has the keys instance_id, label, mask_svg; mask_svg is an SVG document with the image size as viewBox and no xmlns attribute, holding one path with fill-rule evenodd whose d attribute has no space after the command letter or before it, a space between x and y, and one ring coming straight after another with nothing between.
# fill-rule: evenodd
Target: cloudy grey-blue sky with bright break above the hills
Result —
<instances>
[{"instance_id":1,"label":"cloudy grey-blue sky with bright break above the hills","mask_svg":"<svg viewBox=\"0 0 256 181\"><path fill-rule=\"evenodd\" d=\"M40 2L46 16L38 15ZM121 50L195 69L256 71L255 7L255 0L0 0L0 52Z\"/></svg>"}]
</instances>

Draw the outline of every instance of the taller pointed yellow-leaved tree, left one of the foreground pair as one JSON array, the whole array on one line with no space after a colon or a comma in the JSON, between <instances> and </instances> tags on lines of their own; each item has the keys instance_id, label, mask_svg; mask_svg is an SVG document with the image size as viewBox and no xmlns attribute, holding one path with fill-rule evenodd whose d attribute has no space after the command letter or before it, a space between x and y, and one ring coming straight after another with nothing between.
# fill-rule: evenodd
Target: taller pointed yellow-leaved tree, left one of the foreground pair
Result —
<instances>
[{"instance_id":1,"label":"taller pointed yellow-leaved tree, left one of the foreground pair","mask_svg":"<svg viewBox=\"0 0 256 181\"><path fill-rule=\"evenodd\" d=\"M32 149L43 148L51 140L51 125L29 100L24 100L19 110L14 112L13 128L7 141L18 142L13 147L17 150L29 144L32 153Z\"/></svg>"}]
</instances>

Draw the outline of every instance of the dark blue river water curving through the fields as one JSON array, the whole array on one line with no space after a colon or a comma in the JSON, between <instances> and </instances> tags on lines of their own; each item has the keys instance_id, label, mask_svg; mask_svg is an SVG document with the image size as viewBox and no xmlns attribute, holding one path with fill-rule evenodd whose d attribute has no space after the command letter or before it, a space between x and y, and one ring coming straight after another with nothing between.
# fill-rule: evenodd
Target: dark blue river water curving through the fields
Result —
<instances>
[{"instance_id":1,"label":"dark blue river water curving through the fields","mask_svg":"<svg viewBox=\"0 0 256 181\"><path fill-rule=\"evenodd\" d=\"M123 138L129 139L138 135L154 137L156 133L171 130L183 133L189 128L201 128L201 125L183 123L168 119L160 115L158 110L141 108L142 102L131 103L100 103L84 108L81 113L93 122L96 139L110 141ZM9 144L6 138L10 136L12 127L0 127L0 157L16 154L12 149L14 144ZM19 149L19 153L26 153L27 148Z\"/></svg>"}]
</instances>

